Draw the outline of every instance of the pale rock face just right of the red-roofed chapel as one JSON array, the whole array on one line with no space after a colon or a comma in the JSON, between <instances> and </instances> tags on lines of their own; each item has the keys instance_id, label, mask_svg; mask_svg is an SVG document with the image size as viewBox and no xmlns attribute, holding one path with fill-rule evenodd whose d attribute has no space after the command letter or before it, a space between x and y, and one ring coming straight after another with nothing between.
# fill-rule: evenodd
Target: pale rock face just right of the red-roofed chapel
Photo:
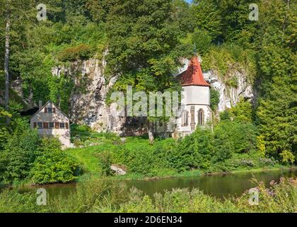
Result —
<instances>
[{"instance_id":1,"label":"pale rock face just right of the red-roofed chapel","mask_svg":"<svg viewBox=\"0 0 297 227\"><path fill-rule=\"evenodd\" d=\"M245 100L254 99L252 84L248 81L248 75L242 72L233 72L236 86L230 86L213 71L204 72L204 78L211 84L213 89L216 89L220 94L218 111L224 111L240 101L240 98Z\"/></svg>"}]
</instances>

